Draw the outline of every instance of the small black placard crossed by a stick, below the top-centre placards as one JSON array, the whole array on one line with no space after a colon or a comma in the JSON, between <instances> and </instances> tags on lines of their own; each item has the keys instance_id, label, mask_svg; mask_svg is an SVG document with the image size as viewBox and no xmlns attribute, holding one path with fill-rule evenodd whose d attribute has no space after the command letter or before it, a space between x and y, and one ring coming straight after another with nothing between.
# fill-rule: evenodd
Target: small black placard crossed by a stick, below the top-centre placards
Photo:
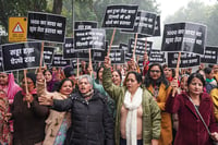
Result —
<instances>
[{"instance_id":1,"label":"small black placard crossed by a stick, below the top-centre placards","mask_svg":"<svg viewBox=\"0 0 218 145\"><path fill-rule=\"evenodd\" d=\"M129 52L131 52L131 53L133 53L134 44L135 44L134 39L129 40ZM145 46L146 46L146 48L145 48ZM135 46L135 55L136 56L144 56L145 51L149 52L152 47L153 47L152 41L137 39L136 46Z\"/></svg>"}]
</instances>

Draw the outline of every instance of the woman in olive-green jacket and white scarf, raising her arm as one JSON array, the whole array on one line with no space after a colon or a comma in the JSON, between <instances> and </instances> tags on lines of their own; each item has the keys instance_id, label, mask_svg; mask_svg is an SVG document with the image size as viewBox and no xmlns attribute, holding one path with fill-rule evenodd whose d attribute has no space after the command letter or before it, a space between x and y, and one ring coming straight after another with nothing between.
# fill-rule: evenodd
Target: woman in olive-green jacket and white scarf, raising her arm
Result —
<instances>
[{"instance_id":1,"label":"woman in olive-green jacket and white scarf, raising her arm","mask_svg":"<svg viewBox=\"0 0 218 145\"><path fill-rule=\"evenodd\" d=\"M102 84L116 100L116 145L157 145L160 135L160 110L146 88L142 76L129 72L124 86L112 83L109 57L105 58Z\"/></svg>"}]
</instances>

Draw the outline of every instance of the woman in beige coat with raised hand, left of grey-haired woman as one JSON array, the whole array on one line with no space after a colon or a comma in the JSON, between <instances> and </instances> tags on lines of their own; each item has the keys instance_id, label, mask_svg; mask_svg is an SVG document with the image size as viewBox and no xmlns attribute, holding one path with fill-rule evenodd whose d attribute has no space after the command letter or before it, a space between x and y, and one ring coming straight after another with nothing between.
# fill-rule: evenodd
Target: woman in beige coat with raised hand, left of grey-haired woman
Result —
<instances>
[{"instance_id":1,"label":"woman in beige coat with raised hand, left of grey-haired woman","mask_svg":"<svg viewBox=\"0 0 218 145\"><path fill-rule=\"evenodd\" d=\"M57 92L48 93L45 88L44 75L37 74L37 93L38 96L50 97L55 99L66 99L73 92L74 83L70 78L64 78L60 82ZM62 145L64 143L66 131L71 123L70 112L58 112L50 110L50 114L46 120L46 137L44 145Z\"/></svg>"}]
</instances>

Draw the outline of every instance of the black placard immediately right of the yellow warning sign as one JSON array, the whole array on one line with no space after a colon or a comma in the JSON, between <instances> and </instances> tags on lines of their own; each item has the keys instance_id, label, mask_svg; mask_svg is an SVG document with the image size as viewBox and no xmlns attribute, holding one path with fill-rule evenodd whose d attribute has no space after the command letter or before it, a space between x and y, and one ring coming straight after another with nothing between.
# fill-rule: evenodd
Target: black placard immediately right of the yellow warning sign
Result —
<instances>
[{"instance_id":1,"label":"black placard immediately right of the yellow warning sign","mask_svg":"<svg viewBox=\"0 0 218 145\"><path fill-rule=\"evenodd\" d=\"M61 15L28 12L27 38L64 43L65 17Z\"/></svg>"}]
</instances>

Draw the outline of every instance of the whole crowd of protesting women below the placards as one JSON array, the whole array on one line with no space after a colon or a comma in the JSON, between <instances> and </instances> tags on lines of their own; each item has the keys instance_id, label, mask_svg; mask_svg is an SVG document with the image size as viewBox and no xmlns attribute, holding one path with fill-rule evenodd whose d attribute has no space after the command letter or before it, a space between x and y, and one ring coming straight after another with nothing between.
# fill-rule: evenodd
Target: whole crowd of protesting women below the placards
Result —
<instances>
[{"instance_id":1,"label":"whole crowd of protesting women below the placards","mask_svg":"<svg viewBox=\"0 0 218 145\"><path fill-rule=\"evenodd\" d=\"M0 145L213 145L218 64L175 70L131 59L0 72ZM77 73L78 72L78 73ZM199 112L199 114L198 114Z\"/></svg>"}]
</instances>

